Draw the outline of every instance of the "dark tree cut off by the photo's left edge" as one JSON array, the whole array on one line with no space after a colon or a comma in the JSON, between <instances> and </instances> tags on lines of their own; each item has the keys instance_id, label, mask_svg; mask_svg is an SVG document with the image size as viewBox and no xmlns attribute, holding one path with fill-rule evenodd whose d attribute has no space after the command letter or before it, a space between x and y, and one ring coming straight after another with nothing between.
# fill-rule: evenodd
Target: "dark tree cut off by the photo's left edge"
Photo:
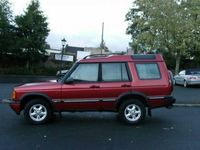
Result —
<instances>
[{"instance_id":1,"label":"dark tree cut off by the photo's left edge","mask_svg":"<svg viewBox=\"0 0 200 150\"><path fill-rule=\"evenodd\" d=\"M13 17L8 0L0 1L0 58L7 55L13 43Z\"/></svg>"}]
</instances>

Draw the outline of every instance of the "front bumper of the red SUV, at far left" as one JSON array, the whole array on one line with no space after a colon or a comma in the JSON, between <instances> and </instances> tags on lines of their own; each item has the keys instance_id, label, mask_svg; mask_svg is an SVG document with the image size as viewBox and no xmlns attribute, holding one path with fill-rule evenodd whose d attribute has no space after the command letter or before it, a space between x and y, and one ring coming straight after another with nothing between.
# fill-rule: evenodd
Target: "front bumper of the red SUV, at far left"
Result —
<instances>
[{"instance_id":1,"label":"front bumper of the red SUV, at far left","mask_svg":"<svg viewBox=\"0 0 200 150\"><path fill-rule=\"evenodd\" d=\"M12 99L2 99L0 100L0 103L9 104L9 106L12 108L13 111L16 112L16 114L20 114L21 108L19 101L14 101Z\"/></svg>"}]
</instances>

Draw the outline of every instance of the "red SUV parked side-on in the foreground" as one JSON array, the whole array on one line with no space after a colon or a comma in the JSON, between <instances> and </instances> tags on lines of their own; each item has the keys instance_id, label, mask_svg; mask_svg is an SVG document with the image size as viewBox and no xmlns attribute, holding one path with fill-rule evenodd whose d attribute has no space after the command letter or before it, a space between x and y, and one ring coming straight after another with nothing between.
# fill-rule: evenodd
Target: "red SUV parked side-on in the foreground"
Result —
<instances>
[{"instance_id":1,"label":"red SUV parked side-on in the foreground","mask_svg":"<svg viewBox=\"0 0 200 150\"><path fill-rule=\"evenodd\" d=\"M53 112L112 111L138 124L151 109L171 107L173 83L161 55L90 55L76 62L57 82L15 87L11 108L23 110L33 124L48 122Z\"/></svg>"}]
</instances>

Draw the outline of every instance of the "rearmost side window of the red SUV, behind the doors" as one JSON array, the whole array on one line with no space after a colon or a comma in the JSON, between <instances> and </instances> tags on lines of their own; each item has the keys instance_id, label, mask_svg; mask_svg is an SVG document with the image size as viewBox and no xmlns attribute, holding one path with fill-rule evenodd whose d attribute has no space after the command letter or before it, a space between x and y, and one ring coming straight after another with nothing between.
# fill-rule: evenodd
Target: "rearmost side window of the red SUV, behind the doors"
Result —
<instances>
[{"instance_id":1,"label":"rearmost side window of the red SUV, behind the doors","mask_svg":"<svg viewBox=\"0 0 200 150\"><path fill-rule=\"evenodd\" d=\"M137 74L141 80L160 79L160 71L156 63L135 64Z\"/></svg>"}]
</instances>

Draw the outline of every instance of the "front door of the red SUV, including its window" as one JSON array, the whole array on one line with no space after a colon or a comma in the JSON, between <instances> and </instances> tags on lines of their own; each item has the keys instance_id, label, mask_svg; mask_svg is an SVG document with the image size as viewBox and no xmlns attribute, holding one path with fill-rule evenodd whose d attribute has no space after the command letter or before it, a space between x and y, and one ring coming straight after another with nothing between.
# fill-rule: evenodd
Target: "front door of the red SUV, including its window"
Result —
<instances>
[{"instance_id":1,"label":"front door of the red SUV, including its window","mask_svg":"<svg viewBox=\"0 0 200 150\"><path fill-rule=\"evenodd\" d=\"M62 85L63 109L100 109L98 63L80 63Z\"/></svg>"}]
</instances>

